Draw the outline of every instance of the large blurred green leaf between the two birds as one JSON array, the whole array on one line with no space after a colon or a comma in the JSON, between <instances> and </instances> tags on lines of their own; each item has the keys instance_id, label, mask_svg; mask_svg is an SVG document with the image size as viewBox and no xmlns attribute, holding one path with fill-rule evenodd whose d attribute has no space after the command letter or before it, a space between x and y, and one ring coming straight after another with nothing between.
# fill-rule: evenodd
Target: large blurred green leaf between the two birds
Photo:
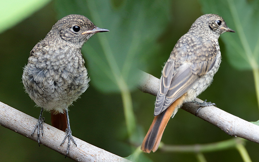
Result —
<instances>
[{"instance_id":1,"label":"large blurred green leaf between the two birds","mask_svg":"<svg viewBox=\"0 0 259 162\"><path fill-rule=\"evenodd\" d=\"M98 33L82 49L91 85L111 92L136 84L136 67L156 48L169 16L168 2L144 1L57 1L60 18L82 14L95 25L110 30ZM159 12L159 14L158 14Z\"/></svg>"}]
</instances>

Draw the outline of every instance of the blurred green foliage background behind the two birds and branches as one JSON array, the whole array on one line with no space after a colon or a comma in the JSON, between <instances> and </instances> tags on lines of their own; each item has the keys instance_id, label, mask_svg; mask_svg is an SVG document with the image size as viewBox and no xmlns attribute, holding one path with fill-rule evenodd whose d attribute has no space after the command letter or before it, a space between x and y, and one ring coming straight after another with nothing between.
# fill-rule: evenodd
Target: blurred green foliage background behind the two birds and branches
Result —
<instances>
[{"instance_id":1,"label":"blurred green foliage background behind the two birds and branches","mask_svg":"<svg viewBox=\"0 0 259 162\"><path fill-rule=\"evenodd\" d=\"M25 5L25 1L21 2ZM5 9L2 10L5 12L0 12L0 22L11 10L15 13L9 17L9 29L3 23L0 25L0 31L5 30L0 34L0 101L9 106L38 118L40 109L34 107L35 103L24 92L21 83L22 67L27 63L30 50L45 37L58 19L68 14L83 14L98 27L109 29L110 32L94 35L83 46L82 52L92 80L81 99L70 107L73 135L121 157L134 152L129 158L140 158L140 161L197 161L193 153L158 150L143 154L136 150L152 123L155 97L134 88L133 76L137 67L159 78L161 66L168 59L177 40L199 16L214 13L222 16L228 27L237 33L220 36L220 69L214 76L213 84L199 98L212 101L222 110L245 120L258 120L254 73L247 70L252 68L239 39L237 17L233 15L233 7L236 7L252 56L258 63L258 52L253 53L258 48L256 0L239 0L235 3L231 0L59 0L48 3L40 10L39 7L44 3L37 1L37 4L31 2L33 7L29 7L30 12L29 9L17 12L22 5L13 3L12 8L7 10L5 7L8 5L4 1L0 2L1 8ZM37 12L29 16L33 11ZM26 16L29 17L23 20ZM121 84L121 81L125 84ZM126 97L123 97L122 91L127 94L124 95ZM125 101L126 98L129 100ZM129 134L125 121L125 102L128 103L126 107L129 111L132 108L134 111L133 119L130 117L130 121L136 123L132 126L132 134ZM50 115L44 112L43 116L45 122L50 123ZM162 142L191 145L231 138L217 127L179 110L168 123ZM259 159L258 144L246 142L246 149L252 161ZM0 161L72 161L1 126L0 152ZM204 157L207 161L242 161L234 148L207 152Z\"/></svg>"}]
</instances>

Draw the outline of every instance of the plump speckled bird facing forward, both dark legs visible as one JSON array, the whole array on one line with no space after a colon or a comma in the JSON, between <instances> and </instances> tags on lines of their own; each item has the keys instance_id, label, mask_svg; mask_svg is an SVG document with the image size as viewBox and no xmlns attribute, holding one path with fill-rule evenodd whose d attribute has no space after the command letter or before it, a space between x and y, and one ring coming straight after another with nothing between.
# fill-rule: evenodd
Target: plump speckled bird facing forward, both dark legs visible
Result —
<instances>
[{"instance_id":1,"label":"plump speckled bird facing forward, both dark legs visible","mask_svg":"<svg viewBox=\"0 0 259 162\"><path fill-rule=\"evenodd\" d=\"M83 44L94 33L106 32L82 15L68 15L58 20L47 36L31 50L24 67L22 82L31 99L41 107L37 129L43 136L43 110L52 113L52 125L67 133L74 142L69 124L68 106L88 88L89 78L81 54ZM67 129L66 129L67 128ZM33 135L32 133L32 135Z\"/></svg>"}]
</instances>

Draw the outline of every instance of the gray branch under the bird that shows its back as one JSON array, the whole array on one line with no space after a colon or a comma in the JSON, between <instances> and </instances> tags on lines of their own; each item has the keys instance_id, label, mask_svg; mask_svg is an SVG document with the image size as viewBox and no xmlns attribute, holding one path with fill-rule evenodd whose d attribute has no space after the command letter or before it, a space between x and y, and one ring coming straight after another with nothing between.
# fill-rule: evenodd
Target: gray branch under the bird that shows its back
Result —
<instances>
[{"instance_id":1,"label":"gray branch under the bird that shows its back","mask_svg":"<svg viewBox=\"0 0 259 162\"><path fill-rule=\"evenodd\" d=\"M138 89L144 93L156 96L160 86L160 80L144 71L140 71ZM203 102L196 98L195 101ZM259 144L259 126L229 114L215 106L208 106L199 109L195 103L184 103L183 110L215 125L228 135L241 137ZM199 110L198 110L199 109Z\"/></svg>"}]
</instances>

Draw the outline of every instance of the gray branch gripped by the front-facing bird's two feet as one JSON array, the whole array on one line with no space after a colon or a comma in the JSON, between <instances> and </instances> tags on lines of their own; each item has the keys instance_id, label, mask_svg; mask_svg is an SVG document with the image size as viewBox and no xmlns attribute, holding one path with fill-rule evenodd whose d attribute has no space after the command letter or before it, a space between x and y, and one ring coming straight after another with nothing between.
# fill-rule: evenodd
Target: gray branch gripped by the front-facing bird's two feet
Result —
<instances>
[{"instance_id":1,"label":"gray branch gripped by the front-facing bird's two feet","mask_svg":"<svg viewBox=\"0 0 259 162\"><path fill-rule=\"evenodd\" d=\"M37 119L20 112L2 102L0 102L0 125L11 129L25 137L30 138L37 142L37 134L31 136L32 130L37 123ZM43 137L41 136L41 144L59 152L60 154L66 155L67 143L65 142L60 146L65 132L60 131L43 123ZM77 147L74 144L70 145L69 154L67 157L75 161L85 161L85 162L107 162L107 161L120 161L129 162L129 160L114 155L108 151L101 148L88 144L76 137L73 137L77 142ZM35 145L36 147L36 145Z\"/></svg>"}]
</instances>

